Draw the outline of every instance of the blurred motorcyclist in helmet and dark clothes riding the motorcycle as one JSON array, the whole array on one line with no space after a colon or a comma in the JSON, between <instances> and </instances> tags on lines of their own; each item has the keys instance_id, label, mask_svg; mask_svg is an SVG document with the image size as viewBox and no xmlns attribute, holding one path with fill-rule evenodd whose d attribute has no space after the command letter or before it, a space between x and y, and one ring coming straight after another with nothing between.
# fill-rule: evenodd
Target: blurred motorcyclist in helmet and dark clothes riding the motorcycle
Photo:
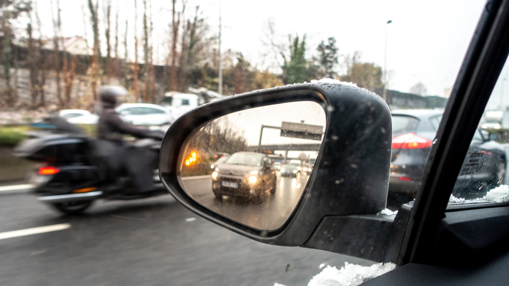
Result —
<instances>
[{"instance_id":1,"label":"blurred motorcyclist in helmet and dark clothes riding the motorcycle","mask_svg":"<svg viewBox=\"0 0 509 286\"><path fill-rule=\"evenodd\" d=\"M122 134L130 134L138 138L156 137L162 138L160 133L136 128L124 122L117 111L117 98L126 96L127 90L123 87L104 86L99 90L102 110L97 123L97 134L99 139L109 141L106 149L109 165L116 172L127 172L133 179L138 192L147 192L154 189L153 166L157 155L151 150L137 148L126 144Z\"/></svg>"}]
</instances>

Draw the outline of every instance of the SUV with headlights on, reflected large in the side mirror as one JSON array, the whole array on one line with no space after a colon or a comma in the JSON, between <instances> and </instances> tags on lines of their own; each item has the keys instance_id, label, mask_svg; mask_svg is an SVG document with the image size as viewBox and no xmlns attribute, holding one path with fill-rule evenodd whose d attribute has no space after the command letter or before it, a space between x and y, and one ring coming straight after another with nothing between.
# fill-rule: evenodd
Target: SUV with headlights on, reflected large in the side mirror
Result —
<instances>
[{"instance_id":1,"label":"SUV with headlights on, reflected large in the side mirror","mask_svg":"<svg viewBox=\"0 0 509 286\"><path fill-rule=\"evenodd\" d=\"M276 192L276 172L265 154L237 152L215 168L212 191L218 201L223 195L261 202L268 192Z\"/></svg>"}]
</instances>

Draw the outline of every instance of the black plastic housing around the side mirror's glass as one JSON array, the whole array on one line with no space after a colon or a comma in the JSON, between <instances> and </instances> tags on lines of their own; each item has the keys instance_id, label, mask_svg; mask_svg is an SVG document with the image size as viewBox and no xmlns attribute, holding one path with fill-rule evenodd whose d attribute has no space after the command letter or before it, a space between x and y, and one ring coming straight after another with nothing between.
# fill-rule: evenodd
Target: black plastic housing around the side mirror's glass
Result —
<instances>
[{"instance_id":1,"label":"black plastic housing around the side mirror's glass","mask_svg":"<svg viewBox=\"0 0 509 286\"><path fill-rule=\"evenodd\" d=\"M258 230L219 215L186 194L180 184L179 156L193 131L231 112L295 101L319 103L327 124L304 192L283 225L273 231ZM187 112L166 132L159 176L177 201L219 225L260 242L301 246L327 216L376 214L385 209L391 146L390 111L378 95L351 84L293 84L236 95Z\"/></svg>"}]
</instances>

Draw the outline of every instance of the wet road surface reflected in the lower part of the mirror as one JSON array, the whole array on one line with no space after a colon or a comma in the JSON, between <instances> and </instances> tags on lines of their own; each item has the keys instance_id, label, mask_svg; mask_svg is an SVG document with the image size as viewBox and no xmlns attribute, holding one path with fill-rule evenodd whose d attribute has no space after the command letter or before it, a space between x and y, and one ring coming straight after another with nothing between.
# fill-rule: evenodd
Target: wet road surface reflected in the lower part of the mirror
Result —
<instances>
[{"instance_id":1,"label":"wet road surface reflected in the lower part of the mirror","mask_svg":"<svg viewBox=\"0 0 509 286\"><path fill-rule=\"evenodd\" d=\"M275 230L295 209L309 176L303 173L296 178L277 175L276 192L267 192L261 204L234 196L223 196L218 202L212 192L210 176L183 178L188 194L201 205L235 221L260 230Z\"/></svg>"}]
</instances>

